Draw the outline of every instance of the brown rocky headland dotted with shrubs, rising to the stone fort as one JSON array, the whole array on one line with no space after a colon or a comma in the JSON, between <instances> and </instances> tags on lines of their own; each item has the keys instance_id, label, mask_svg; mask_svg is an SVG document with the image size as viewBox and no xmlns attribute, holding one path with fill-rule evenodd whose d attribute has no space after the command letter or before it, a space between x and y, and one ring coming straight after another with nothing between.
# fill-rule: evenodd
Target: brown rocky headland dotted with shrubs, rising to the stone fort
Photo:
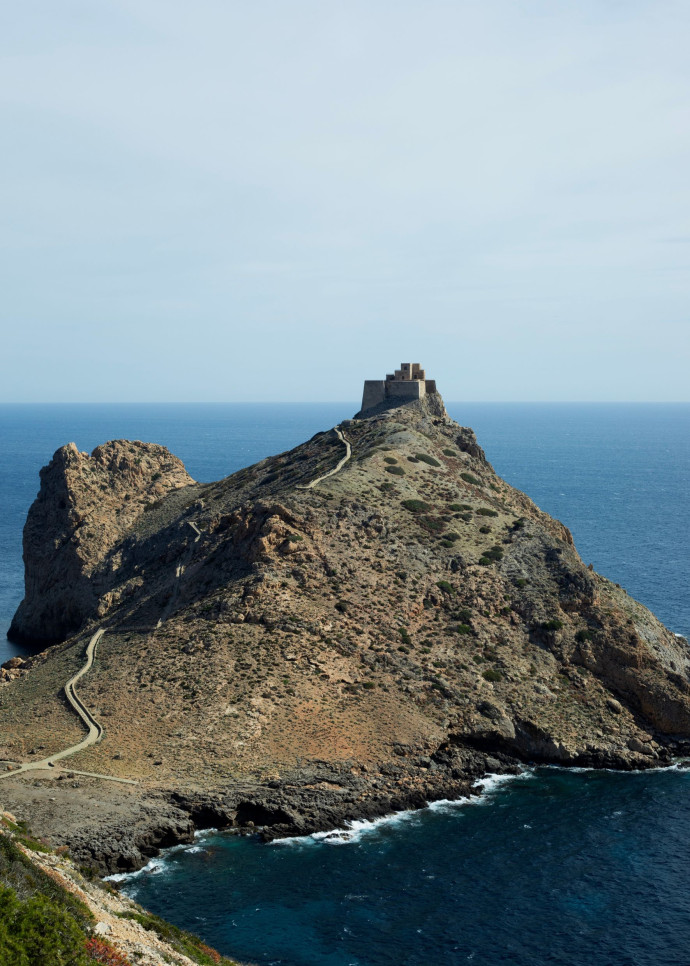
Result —
<instances>
[{"instance_id":1,"label":"brown rocky headland dotted with shrubs, rising to the stone fort","mask_svg":"<svg viewBox=\"0 0 690 966\"><path fill-rule=\"evenodd\" d=\"M279 834L519 761L645 768L690 747L687 642L590 571L440 397L339 431L204 486L143 444L142 464L116 443L43 471L17 627L106 631L79 684L106 734L75 768ZM0 686L0 757L77 740L55 695L84 642ZM63 835L102 856L114 838L89 821ZM108 867L136 864L117 842Z\"/></svg>"}]
</instances>

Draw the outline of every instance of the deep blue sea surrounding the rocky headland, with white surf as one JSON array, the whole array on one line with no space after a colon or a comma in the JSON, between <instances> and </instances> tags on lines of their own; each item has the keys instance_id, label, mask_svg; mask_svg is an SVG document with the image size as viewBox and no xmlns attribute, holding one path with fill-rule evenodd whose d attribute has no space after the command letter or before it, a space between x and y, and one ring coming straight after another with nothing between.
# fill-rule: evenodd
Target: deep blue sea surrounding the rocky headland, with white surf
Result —
<instances>
[{"instance_id":1,"label":"deep blue sea surrounding the rocky headland, with white surf","mask_svg":"<svg viewBox=\"0 0 690 966\"><path fill-rule=\"evenodd\" d=\"M348 418L353 403L0 406L0 626L21 532L58 446L163 443L211 481ZM690 404L448 403L497 473L585 563L690 636ZM0 634L0 661L23 653ZM1 727L0 722L0 727ZM206 831L121 882L243 962L690 966L690 772L559 768L264 844Z\"/></svg>"}]
</instances>

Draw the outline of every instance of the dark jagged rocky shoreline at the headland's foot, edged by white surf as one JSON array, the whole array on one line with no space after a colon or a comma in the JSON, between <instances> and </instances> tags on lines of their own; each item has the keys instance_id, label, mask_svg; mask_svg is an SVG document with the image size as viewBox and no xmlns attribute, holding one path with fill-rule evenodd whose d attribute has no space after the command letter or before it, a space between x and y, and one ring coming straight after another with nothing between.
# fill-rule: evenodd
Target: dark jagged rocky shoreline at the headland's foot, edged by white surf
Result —
<instances>
[{"instance_id":1,"label":"dark jagged rocky shoreline at the headland's foot, edged by white surf","mask_svg":"<svg viewBox=\"0 0 690 966\"><path fill-rule=\"evenodd\" d=\"M690 753L687 743L674 746L674 753ZM444 761L445 757L445 761ZM243 783L239 787L219 791L142 795L126 814L108 815L107 809L98 821L83 814L81 789L71 792L60 810L58 823L53 823L41 804L34 799L32 823L47 834L57 847L66 845L75 860L100 876L131 873L144 867L161 851L194 841L205 829L256 834L264 841L306 836L316 832L343 829L355 821L373 821L397 812L426 808L435 801L459 800L482 794L482 781L495 775L519 775L525 767L559 762L524 762L496 752L487 755L464 750L462 763L448 752L439 753L421 764L402 765L394 762L371 778L353 774L343 767L334 770L323 763L310 766L291 781L268 784ZM640 760L638 755L581 756L573 767L641 771L670 767L676 759L670 749L657 760ZM568 766L566 766L568 767ZM356 770L356 769L355 769ZM61 782L61 785L66 784ZM85 783L89 786L88 781ZM93 789L104 800L103 790ZM20 798L12 796L15 807ZM52 796L51 796L52 799ZM71 819L78 818L74 822Z\"/></svg>"}]
</instances>

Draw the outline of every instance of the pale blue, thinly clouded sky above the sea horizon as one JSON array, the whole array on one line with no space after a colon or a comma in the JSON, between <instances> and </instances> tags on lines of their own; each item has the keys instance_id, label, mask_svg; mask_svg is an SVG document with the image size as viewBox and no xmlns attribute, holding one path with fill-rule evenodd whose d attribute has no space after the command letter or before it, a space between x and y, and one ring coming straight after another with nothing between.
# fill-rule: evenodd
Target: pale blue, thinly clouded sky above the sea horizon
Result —
<instances>
[{"instance_id":1,"label":"pale blue, thinly clouded sky above the sea horizon","mask_svg":"<svg viewBox=\"0 0 690 966\"><path fill-rule=\"evenodd\" d=\"M687 0L0 2L0 401L689 401L688 49Z\"/></svg>"}]
</instances>

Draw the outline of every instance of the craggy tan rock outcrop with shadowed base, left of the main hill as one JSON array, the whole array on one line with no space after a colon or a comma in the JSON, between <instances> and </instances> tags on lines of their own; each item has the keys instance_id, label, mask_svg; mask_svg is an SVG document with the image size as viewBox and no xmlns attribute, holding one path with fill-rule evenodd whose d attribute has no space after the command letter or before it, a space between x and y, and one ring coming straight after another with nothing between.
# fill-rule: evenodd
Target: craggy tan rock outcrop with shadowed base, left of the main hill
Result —
<instances>
[{"instance_id":1,"label":"craggy tan rock outcrop with shadowed base, left of the main hill","mask_svg":"<svg viewBox=\"0 0 690 966\"><path fill-rule=\"evenodd\" d=\"M25 594L10 639L55 643L95 617L104 589L93 579L98 567L152 502L193 482L176 456L152 443L113 440L91 455L74 443L57 450L24 527Z\"/></svg>"}]
</instances>

